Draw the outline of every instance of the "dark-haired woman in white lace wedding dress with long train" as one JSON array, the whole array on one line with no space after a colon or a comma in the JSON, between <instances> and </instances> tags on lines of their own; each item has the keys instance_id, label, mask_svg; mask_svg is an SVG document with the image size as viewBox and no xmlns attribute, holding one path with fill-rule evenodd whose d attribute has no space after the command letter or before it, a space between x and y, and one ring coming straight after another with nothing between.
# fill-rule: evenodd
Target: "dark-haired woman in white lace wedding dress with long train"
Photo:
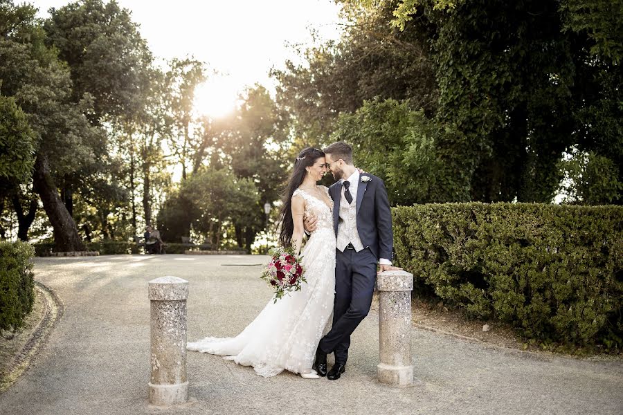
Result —
<instances>
[{"instance_id":1,"label":"dark-haired woman in white lace wedding dress with long train","mask_svg":"<svg viewBox=\"0 0 623 415\"><path fill-rule=\"evenodd\" d=\"M333 201L327 187L316 185L326 172L323 151L303 149L294 162L280 211L280 243L294 246L297 254L303 242L303 216L318 217L318 227L300 252L307 284L276 303L270 299L235 338L204 338L189 342L188 350L225 356L238 365L253 366L264 377L283 370L308 379L320 377L311 366L335 294Z\"/></svg>"}]
</instances>

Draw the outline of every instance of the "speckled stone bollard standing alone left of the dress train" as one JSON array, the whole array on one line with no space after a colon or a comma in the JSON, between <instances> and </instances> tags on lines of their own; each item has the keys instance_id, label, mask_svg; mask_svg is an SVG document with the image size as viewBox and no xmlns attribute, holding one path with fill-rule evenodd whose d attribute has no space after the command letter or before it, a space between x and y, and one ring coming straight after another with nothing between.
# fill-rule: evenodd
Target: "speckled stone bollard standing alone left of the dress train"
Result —
<instances>
[{"instance_id":1,"label":"speckled stone bollard standing alone left of the dress train","mask_svg":"<svg viewBox=\"0 0 623 415\"><path fill-rule=\"evenodd\" d=\"M188 281L156 278L149 283L152 350L150 403L176 405L188 400L186 380L186 299Z\"/></svg>"}]
</instances>

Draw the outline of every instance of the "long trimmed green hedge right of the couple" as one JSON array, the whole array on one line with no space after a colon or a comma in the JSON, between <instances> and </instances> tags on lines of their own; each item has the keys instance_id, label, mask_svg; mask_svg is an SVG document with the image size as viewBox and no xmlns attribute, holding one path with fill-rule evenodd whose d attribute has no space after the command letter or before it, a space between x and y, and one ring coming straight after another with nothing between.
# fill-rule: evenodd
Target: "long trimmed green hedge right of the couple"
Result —
<instances>
[{"instance_id":1,"label":"long trimmed green hedge right of the couple","mask_svg":"<svg viewBox=\"0 0 623 415\"><path fill-rule=\"evenodd\" d=\"M623 347L622 207L444 203L392 215L416 295L510 323L543 347Z\"/></svg>"}]
</instances>

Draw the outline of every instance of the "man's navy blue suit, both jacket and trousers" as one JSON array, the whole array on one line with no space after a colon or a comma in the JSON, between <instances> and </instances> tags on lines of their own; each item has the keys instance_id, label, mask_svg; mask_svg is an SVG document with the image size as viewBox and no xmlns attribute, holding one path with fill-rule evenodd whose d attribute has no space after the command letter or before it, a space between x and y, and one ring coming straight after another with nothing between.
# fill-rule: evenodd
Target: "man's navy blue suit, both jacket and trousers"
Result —
<instances>
[{"instance_id":1,"label":"man's navy blue suit, both jacket and trousers","mask_svg":"<svg viewBox=\"0 0 623 415\"><path fill-rule=\"evenodd\" d=\"M350 335L370 312L374 284L377 280L379 258L392 259L392 216L385 184L377 176L364 173L370 181L359 183L356 192L357 232L363 250L336 249L335 303L331 331L320 340L318 347L334 353L336 362L345 363L350 347ZM334 201L333 222L337 236L342 182L329 187Z\"/></svg>"}]
</instances>

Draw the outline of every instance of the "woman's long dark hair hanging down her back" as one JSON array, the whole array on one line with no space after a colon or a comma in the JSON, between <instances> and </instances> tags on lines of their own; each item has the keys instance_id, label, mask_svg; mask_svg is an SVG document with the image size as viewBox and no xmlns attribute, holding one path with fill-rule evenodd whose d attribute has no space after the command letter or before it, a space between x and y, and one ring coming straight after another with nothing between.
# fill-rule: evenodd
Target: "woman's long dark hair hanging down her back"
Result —
<instances>
[{"instance_id":1,"label":"woman's long dark hair hanging down her back","mask_svg":"<svg viewBox=\"0 0 623 415\"><path fill-rule=\"evenodd\" d=\"M279 241L281 246L290 246L292 241L292 233L294 232L294 220L292 219L292 194L303 183L305 174L307 174L306 167L313 166L316 160L320 157L324 157L325 154L319 149L312 147L306 147L298 154L298 157L294 161L294 168L292 174L282 193L282 205L279 212L279 221L277 223L280 227Z\"/></svg>"}]
</instances>

